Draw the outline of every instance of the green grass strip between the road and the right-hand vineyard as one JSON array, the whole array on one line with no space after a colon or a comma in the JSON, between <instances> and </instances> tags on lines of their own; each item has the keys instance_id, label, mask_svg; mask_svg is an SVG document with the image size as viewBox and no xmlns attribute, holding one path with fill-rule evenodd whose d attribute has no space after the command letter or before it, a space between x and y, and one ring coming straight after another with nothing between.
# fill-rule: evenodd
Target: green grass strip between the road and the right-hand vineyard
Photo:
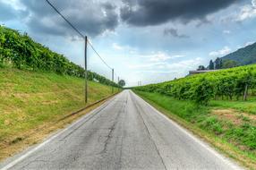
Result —
<instances>
[{"instance_id":1,"label":"green grass strip between the road and the right-hand vineyard","mask_svg":"<svg viewBox=\"0 0 256 170\"><path fill-rule=\"evenodd\" d=\"M252 118L254 115L240 113L242 110L253 113L256 105L252 106L252 102L212 101L209 106L197 106L192 101L176 100L158 93L138 90L135 92L166 115L174 115L185 124L189 123L190 127L198 128L204 134L210 135L212 141L218 139L228 143L232 146L231 149L238 150L240 154L249 158L252 161L251 167L256 168L256 121ZM228 114L214 114L213 111L222 111L223 108L236 108L237 111L228 110Z\"/></svg>"}]
</instances>

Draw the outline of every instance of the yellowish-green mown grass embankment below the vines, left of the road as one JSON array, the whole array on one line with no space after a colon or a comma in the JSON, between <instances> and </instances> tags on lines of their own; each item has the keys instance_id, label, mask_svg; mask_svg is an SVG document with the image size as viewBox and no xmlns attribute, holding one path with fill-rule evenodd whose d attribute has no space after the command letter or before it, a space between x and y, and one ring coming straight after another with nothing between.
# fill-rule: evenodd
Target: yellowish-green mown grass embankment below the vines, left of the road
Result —
<instances>
[{"instance_id":1,"label":"yellowish-green mown grass embankment below the vines, left of the road","mask_svg":"<svg viewBox=\"0 0 256 170\"><path fill-rule=\"evenodd\" d=\"M89 92L88 105L112 95L111 87L93 81L89 82ZM85 106L84 80L51 72L0 68L0 97L1 160L82 115L57 122Z\"/></svg>"}]
</instances>

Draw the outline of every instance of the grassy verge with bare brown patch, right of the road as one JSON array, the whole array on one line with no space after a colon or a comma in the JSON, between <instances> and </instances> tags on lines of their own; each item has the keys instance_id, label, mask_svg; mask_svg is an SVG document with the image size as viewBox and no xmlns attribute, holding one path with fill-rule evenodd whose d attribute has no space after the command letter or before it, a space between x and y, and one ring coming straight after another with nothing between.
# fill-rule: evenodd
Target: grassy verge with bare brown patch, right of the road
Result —
<instances>
[{"instance_id":1,"label":"grassy verge with bare brown patch, right of the road","mask_svg":"<svg viewBox=\"0 0 256 170\"><path fill-rule=\"evenodd\" d=\"M158 93L135 92L226 156L233 157L243 166L256 169L255 115L234 110L232 106L233 109L227 109L228 104L218 105L217 101L209 106L196 106L191 101L175 100Z\"/></svg>"}]
</instances>

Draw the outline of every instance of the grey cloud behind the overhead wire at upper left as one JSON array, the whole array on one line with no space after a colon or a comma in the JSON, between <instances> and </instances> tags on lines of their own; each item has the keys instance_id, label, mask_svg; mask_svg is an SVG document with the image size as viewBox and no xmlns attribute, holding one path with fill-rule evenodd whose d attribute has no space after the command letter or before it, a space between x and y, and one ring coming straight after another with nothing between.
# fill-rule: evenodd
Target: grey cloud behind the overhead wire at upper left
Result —
<instances>
[{"instance_id":1,"label":"grey cloud behind the overhead wire at upper left","mask_svg":"<svg viewBox=\"0 0 256 170\"><path fill-rule=\"evenodd\" d=\"M52 0L52 4L82 33L97 36L106 30L115 30L118 14L115 5L84 0ZM30 30L52 35L73 35L67 23L45 2L21 0L30 12L27 22Z\"/></svg>"}]
</instances>

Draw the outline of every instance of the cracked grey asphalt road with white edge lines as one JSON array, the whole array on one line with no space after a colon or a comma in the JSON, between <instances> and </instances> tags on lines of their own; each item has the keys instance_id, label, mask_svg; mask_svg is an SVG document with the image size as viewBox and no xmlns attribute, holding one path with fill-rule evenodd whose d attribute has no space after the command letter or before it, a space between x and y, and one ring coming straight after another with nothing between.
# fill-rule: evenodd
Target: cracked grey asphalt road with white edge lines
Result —
<instances>
[{"instance_id":1,"label":"cracked grey asphalt road with white edge lines","mask_svg":"<svg viewBox=\"0 0 256 170\"><path fill-rule=\"evenodd\" d=\"M2 169L239 168L131 90L2 164Z\"/></svg>"}]
</instances>

